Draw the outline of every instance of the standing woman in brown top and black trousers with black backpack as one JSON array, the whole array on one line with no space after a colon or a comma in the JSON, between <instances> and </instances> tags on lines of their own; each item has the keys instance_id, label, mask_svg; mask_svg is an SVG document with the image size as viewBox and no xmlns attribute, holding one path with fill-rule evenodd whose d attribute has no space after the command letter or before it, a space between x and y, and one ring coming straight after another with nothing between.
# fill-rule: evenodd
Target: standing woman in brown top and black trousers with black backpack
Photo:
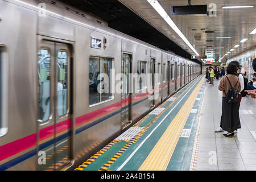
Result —
<instances>
[{"instance_id":1,"label":"standing woman in brown top and black trousers with black backpack","mask_svg":"<svg viewBox=\"0 0 256 182\"><path fill-rule=\"evenodd\" d=\"M238 111L238 95L235 102L228 103L226 94L229 89L234 87L237 94L241 91L241 84L237 77L237 67L235 64L229 64L226 70L226 76L222 77L218 89L222 91L222 129L228 131L225 137L233 137L234 130L240 129L240 118Z\"/></svg>"}]
</instances>

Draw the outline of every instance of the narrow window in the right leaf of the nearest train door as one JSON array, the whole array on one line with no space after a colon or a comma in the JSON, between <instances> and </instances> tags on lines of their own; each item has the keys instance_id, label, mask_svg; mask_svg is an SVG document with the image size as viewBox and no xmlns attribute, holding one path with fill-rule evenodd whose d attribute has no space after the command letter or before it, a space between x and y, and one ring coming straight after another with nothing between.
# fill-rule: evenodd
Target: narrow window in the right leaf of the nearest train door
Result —
<instances>
[{"instance_id":1,"label":"narrow window in the right leaf of the nearest train door","mask_svg":"<svg viewBox=\"0 0 256 182\"><path fill-rule=\"evenodd\" d=\"M59 51L57 57L57 110L59 116L67 114L68 109L68 53Z\"/></svg>"}]
</instances>

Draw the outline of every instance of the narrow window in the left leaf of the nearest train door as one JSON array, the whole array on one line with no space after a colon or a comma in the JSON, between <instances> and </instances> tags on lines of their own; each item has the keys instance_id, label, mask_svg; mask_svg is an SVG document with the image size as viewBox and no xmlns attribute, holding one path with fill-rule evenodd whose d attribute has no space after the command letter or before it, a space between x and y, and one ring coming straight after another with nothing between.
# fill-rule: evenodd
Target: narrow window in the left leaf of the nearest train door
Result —
<instances>
[{"instance_id":1,"label":"narrow window in the left leaf of the nearest train door","mask_svg":"<svg viewBox=\"0 0 256 182\"><path fill-rule=\"evenodd\" d=\"M38 121L44 122L50 115L51 53L48 49L38 51Z\"/></svg>"}]
</instances>

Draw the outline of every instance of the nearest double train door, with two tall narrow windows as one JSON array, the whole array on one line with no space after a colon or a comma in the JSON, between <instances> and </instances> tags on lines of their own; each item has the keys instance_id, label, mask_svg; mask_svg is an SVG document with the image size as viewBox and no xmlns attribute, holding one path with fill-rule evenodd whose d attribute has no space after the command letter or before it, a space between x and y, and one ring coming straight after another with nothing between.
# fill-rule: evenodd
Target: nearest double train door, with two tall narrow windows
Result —
<instances>
[{"instance_id":1,"label":"nearest double train door, with two tall narrow windows","mask_svg":"<svg viewBox=\"0 0 256 182\"><path fill-rule=\"evenodd\" d=\"M71 159L70 60L68 44L40 42L37 60L38 170L59 170Z\"/></svg>"}]
</instances>

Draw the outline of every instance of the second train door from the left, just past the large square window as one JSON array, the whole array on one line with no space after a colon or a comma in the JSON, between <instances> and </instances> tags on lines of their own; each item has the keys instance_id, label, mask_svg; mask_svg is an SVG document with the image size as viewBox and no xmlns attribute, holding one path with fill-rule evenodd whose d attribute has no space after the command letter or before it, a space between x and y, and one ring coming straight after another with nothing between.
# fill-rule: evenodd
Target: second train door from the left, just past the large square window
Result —
<instances>
[{"instance_id":1,"label":"second train door from the left, just past the large square window","mask_svg":"<svg viewBox=\"0 0 256 182\"><path fill-rule=\"evenodd\" d=\"M131 55L123 53L121 72L123 74L122 79L122 93L121 93L121 127L125 127L131 124L131 94L129 89L129 73L131 73Z\"/></svg>"}]
</instances>

